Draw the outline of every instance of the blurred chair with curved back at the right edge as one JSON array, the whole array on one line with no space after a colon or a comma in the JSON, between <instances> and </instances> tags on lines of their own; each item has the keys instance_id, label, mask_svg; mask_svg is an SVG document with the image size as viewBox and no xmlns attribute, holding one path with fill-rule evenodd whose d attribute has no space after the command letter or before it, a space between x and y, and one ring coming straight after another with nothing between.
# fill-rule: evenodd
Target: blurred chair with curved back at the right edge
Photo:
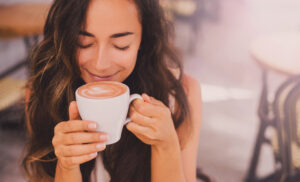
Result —
<instances>
[{"instance_id":1,"label":"blurred chair with curved back at the right edge","mask_svg":"<svg viewBox=\"0 0 300 182\"><path fill-rule=\"evenodd\" d=\"M278 88L272 109L273 137L268 141L275 158L275 171L260 182L300 181L300 75L292 76Z\"/></svg>"}]
</instances>

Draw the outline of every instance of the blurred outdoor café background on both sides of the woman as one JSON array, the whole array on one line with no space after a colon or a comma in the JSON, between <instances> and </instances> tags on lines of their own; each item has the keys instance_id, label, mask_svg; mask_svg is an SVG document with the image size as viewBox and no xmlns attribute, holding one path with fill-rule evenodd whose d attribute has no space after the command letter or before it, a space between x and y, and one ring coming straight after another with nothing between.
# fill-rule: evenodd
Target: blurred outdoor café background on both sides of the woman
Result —
<instances>
[{"instance_id":1,"label":"blurred outdoor caf\u00e9 background on both sides of the woman","mask_svg":"<svg viewBox=\"0 0 300 182\"><path fill-rule=\"evenodd\" d=\"M19 169L25 143L20 125L24 119L22 87L27 78L26 61L22 60L26 60L28 49L41 39L36 36L39 27L33 31L13 25L5 8L41 2L51 1L0 0L0 179L3 182L25 181ZM276 112L269 107L276 100L275 93L281 84L300 74L300 60L295 61L300 58L300 1L161 0L161 4L174 22L174 41L183 53L185 71L202 86L203 122L197 160L201 171L217 182L300 181L296 179L296 154L291 152L290 140L286 140L289 133L279 127L286 120L282 117L280 121L274 120ZM43 21L45 14L38 13ZM28 26L22 21L16 24ZM14 66L16 69L11 69ZM268 73L265 84L263 73ZM271 123L270 127L265 123ZM293 126L297 128L297 124ZM297 131L294 137L297 138Z\"/></svg>"}]
</instances>

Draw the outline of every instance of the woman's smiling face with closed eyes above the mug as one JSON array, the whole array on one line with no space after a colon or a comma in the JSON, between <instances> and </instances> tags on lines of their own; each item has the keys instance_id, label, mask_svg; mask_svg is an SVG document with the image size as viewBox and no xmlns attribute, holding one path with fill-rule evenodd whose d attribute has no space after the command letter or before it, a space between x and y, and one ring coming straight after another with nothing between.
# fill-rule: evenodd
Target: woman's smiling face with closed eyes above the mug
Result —
<instances>
[{"instance_id":1,"label":"woman's smiling face with closed eyes above the mug","mask_svg":"<svg viewBox=\"0 0 300 182\"><path fill-rule=\"evenodd\" d=\"M131 0L91 0L77 60L86 82L124 81L133 71L142 26Z\"/></svg>"}]
</instances>

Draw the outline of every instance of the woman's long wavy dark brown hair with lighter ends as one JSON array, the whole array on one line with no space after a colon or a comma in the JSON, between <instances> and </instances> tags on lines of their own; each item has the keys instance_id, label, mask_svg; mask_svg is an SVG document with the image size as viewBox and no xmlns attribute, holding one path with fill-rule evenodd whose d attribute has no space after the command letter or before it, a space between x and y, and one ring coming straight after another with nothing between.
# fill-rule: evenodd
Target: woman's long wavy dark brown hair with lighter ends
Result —
<instances>
[{"instance_id":1,"label":"woman's long wavy dark brown hair with lighter ends","mask_svg":"<svg viewBox=\"0 0 300 182\"><path fill-rule=\"evenodd\" d=\"M123 83L132 93L147 93L167 106L172 95L177 108L172 117L178 128L188 121L189 106L182 86L180 57L170 41L173 27L158 0L133 2L143 33L136 66ZM88 5L89 0L55 0L44 27L44 39L31 56L30 92L25 108L28 142L22 163L30 181L52 181L55 176L57 158L51 142L54 127L69 119L68 106L75 100L74 92L85 84L80 78L76 50ZM170 67L180 70L179 79ZM111 182L149 182L150 149L124 127L120 141L101 152ZM94 166L95 159L80 166L84 182L90 181Z\"/></svg>"}]
</instances>

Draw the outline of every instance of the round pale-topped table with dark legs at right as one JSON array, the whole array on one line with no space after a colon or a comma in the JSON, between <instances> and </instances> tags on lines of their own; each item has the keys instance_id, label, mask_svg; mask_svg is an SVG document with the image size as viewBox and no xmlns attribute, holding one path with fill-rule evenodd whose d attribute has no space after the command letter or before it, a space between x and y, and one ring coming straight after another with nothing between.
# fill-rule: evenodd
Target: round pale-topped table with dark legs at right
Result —
<instances>
[{"instance_id":1,"label":"round pale-topped table with dark legs at right","mask_svg":"<svg viewBox=\"0 0 300 182\"><path fill-rule=\"evenodd\" d=\"M284 146L287 139L282 133L283 129L281 124L278 124L279 112L276 106L279 103L279 94L282 93L290 83L300 81L300 32L285 32L276 33L268 36L260 37L254 40L250 46L250 54L254 61L262 68L262 82L263 87L258 108L258 115L260 118L260 127L250 163L249 171L246 177L246 182L258 182L270 179L284 179L291 174L291 167L289 163L282 161L290 161L289 152ZM276 72L288 76L288 79L283 82L277 89L273 101L268 100L268 73ZM290 94L288 92L287 94ZM286 96L287 98L288 96ZM283 101L282 101L283 102ZM285 102L285 101L284 101ZM284 105L285 106L285 105ZM278 151L282 156L276 159L275 162L282 162L282 171L275 172L265 179L260 179L256 175L257 164L261 146L264 143L270 144L270 140L265 136L267 127L272 126L276 129L278 136ZM282 140L280 138L283 138ZM281 161L280 161L281 160ZM271 180L272 181L272 180Z\"/></svg>"}]
</instances>

